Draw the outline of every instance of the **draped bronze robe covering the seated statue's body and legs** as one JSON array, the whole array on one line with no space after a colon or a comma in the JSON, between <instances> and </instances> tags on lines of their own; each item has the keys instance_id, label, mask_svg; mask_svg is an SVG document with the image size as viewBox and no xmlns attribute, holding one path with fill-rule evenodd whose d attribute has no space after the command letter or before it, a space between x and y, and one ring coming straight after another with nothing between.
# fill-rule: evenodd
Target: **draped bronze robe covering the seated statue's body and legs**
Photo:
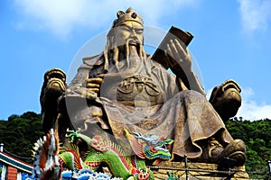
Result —
<instances>
[{"instance_id":1,"label":"draped bronze robe covering the seated statue's body and legs","mask_svg":"<svg viewBox=\"0 0 271 180\"><path fill-rule=\"evenodd\" d=\"M202 144L210 138L226 147L233 139L219 114L200 93L179 91L175 76L148 58L131 56L104 69L104 56L83 58L69 85L67 112L73 128L88 136L126 139L125 130L174 140L172 154L201 157ZM118 70L117 70L118 69ZM73 91L84 88L87 78L105 74L100 94L86 99ZM65 101L64 101L65 102ZM80 102L80 103L79 103Z\"/></svg>"}]
</instances>

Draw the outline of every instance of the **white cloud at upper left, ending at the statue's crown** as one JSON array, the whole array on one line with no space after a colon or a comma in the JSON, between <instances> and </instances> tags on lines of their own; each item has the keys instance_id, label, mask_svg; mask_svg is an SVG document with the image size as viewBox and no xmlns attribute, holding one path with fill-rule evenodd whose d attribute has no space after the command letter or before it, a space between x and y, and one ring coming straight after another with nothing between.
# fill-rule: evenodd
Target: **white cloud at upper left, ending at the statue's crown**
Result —
<instances>
[{"instance_id":1,"label":"white cloud at upper left, ending at the statue's crown","mask_svg":"<svg viewBox=\"0 0 271 180\"><path fill-rule=\"evenodd\" d=\"M61 37L67 36L77 26L94 27L99 21L107 22L107 14L114 9L103 11L98 4L87 0L15 0L14 4L23 16L18 22L20 27L47 30Z\"/></svg>"}]
</instances>

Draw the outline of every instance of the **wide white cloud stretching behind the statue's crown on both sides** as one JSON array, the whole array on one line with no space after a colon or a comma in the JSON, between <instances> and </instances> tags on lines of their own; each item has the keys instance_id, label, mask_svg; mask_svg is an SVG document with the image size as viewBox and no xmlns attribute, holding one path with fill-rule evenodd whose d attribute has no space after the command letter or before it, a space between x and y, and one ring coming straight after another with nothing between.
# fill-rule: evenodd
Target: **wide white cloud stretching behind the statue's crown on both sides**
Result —
<instances>
[{"instance_id":1,"label":"wide white cloud stretching behind the statue's crown on both sides","mask_svg":"<svg viewBox=\"0 0 271 180\"><path fill-rule=\"evenodd\" d=\"M193 6L199 1L173 0L14 0L20 15L17 26L23 29L47 30L65 37L79 28L109 28L118 10L132 6L145 17L145 22L157 23L164 14L173 14L181 7ZM164 7L171 11L164 11Z\"/></svg>"}]
</instances>

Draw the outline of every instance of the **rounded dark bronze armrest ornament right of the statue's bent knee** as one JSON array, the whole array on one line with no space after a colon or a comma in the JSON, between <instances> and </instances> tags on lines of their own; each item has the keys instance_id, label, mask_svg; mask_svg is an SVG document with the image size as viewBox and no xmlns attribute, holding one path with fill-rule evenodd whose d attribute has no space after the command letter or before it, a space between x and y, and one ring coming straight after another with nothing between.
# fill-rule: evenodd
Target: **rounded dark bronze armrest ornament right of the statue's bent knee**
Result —
<instances>
[{"instance_id":1,"label":"rounded dark bronze armrest ornament right of the statue's bent knee","mask_svg":"<svg viewBox=\"0 0 271 180\"><path fill-rule=\"evenodd\" d=\"M209 101L223 121L228 121L238 112L241 105L240 93L239 85L231 79L212 90Z\"/></svg>"}]
</instances>

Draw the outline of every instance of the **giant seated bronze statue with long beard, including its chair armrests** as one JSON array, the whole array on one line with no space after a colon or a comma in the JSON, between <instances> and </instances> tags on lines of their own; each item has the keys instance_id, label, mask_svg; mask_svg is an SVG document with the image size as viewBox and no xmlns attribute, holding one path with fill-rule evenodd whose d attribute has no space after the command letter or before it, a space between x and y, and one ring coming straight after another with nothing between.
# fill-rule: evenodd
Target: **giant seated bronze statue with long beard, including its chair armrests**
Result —
<instances>
[{"instance_id":1,"label":"giant seated bronze statue with long beard, including its chair armrests","mask_svg":"<svg viewBox=\"0 0 271 180\"><path fill-rule=\"evenodd\" d=\"M166 40L163 53L144 49L144 23L129 8L117 12L101 54L83 58L70 85L61 69L45 73L42 124L61 141L67 129L98 136L126 148L126 130L173 139L170 161L219 164L225 157L242 166L246 148L232 139L224 122L241 103L233 80L214 88L210 101L192 72L192 57L180 38ZM171 68L169 72L167 68ZM79 148L84 144L78 142ZM147 162L151 163L151 162Z\"/></svg>"}]
</instances>

